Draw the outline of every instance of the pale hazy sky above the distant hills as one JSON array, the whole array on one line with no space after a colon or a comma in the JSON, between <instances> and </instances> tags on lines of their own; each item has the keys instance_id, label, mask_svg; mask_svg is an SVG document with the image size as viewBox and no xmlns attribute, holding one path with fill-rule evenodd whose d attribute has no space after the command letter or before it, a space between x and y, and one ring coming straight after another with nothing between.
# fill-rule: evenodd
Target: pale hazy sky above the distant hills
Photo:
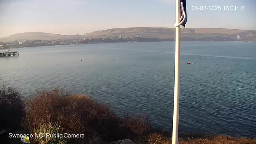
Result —
<instances>
[{"instance_id":1,"label":"pale hazy sky above the distant hills","mask_svg":"<svg viewBox=\"0 0 256 144\"><path fill-rule=\"evenodd\" d=\"M186 28L256 30L256 0L186 0ZM220 11L192 6L221 6ZM224 11L223 6L244 6ZM174 27L175 0L0 0L0 37L21 32L85 34L121 27Z\"/></svg>"}]
</instances>

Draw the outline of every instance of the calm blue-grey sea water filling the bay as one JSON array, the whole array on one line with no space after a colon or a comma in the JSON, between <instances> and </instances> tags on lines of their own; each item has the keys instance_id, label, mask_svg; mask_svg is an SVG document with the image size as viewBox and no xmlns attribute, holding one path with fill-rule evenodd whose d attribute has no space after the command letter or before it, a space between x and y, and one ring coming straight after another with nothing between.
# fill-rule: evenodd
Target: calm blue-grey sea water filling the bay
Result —
<instances>
[{"instance_id":1,"label":"calm blue-grey sea water filling the bay","mask_svg":"<svg viewBox=\"0 0 256 144\"><path fill-rule=\"evenodd\" d=\"M174 46L138 42L20 48L18 57L0 57L0 84L29 95L53 87L86 93L111 104L118 114L144 114L154 126L172 130ZM256 137L256 43L181 46L179 132Z\"/></svg>"}]
</instances>

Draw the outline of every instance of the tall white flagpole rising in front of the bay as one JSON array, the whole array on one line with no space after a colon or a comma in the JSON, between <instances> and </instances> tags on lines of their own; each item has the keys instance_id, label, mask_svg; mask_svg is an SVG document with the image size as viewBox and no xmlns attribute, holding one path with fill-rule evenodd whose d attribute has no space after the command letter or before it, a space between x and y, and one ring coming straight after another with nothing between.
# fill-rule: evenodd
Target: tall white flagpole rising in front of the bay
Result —
<instances>
[{"instance_id":1,"label":"tall white flagpole rising in front of the bay","mask_svg":"<svg viewBox=\"0 0 256 144\"><path fill-rule=\"evenodd\" d=\"M175 2L176 18L175 23L180 23L180 0ZM178 144L180 107L180 25L175 27L175 78L174 78L174 104L172 124L172 144Z\"/></svg>"}]
</instances>

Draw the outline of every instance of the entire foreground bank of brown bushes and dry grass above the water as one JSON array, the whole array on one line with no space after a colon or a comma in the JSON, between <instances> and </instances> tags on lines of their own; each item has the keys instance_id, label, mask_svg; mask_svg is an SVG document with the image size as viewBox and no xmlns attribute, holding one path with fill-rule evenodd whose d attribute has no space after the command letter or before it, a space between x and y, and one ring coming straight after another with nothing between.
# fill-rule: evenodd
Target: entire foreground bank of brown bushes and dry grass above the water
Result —
<instances>
[{"instance_id":1,"label":"entire foreground bank of brown bushes and dry grass above the water","mask_svg":"<svg viewBox=\"0 0 256 144\"><path fill-rule=\"evenodd\" d=\"M171 136L155 130L148 118L119 116L109 105L95 102L83 94L53 89L24 99L14 88L0 88L0 128L6 133L83 134L80 138L30 138L32 144L104 144L130 138L137 144L170 144ZM1 142L12 143L8 134ZM256 139L216 136L182 136L179 144L256 144Z\"/></svg>"}]
</instances>

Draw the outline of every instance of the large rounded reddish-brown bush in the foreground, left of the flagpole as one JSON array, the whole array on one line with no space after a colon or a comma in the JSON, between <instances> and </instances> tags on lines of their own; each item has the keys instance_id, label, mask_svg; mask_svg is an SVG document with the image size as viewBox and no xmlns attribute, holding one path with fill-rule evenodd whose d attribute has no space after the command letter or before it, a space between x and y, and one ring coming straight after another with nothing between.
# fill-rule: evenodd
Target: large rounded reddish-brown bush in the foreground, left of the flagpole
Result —
<instances>
[{"instance_id":1,"label":"large rounded reddish-brown bush in the foreground, left of the flagpole","mask_svg":"<svg viewBox=\"0 0 256 144\"><path fill-rule=\"evenodd\" d=\"M64 131L69 134L85 134L85 138L71 140L74 143L89 143L94 138L103 141L137 138L149 130L146 117L126 116L121 118L106 104L95 102L83 94L68 94L58 89L40 91L26 100L27 116L24 127L47 121L61 120Z\"/></svg>"}]
</instances>

